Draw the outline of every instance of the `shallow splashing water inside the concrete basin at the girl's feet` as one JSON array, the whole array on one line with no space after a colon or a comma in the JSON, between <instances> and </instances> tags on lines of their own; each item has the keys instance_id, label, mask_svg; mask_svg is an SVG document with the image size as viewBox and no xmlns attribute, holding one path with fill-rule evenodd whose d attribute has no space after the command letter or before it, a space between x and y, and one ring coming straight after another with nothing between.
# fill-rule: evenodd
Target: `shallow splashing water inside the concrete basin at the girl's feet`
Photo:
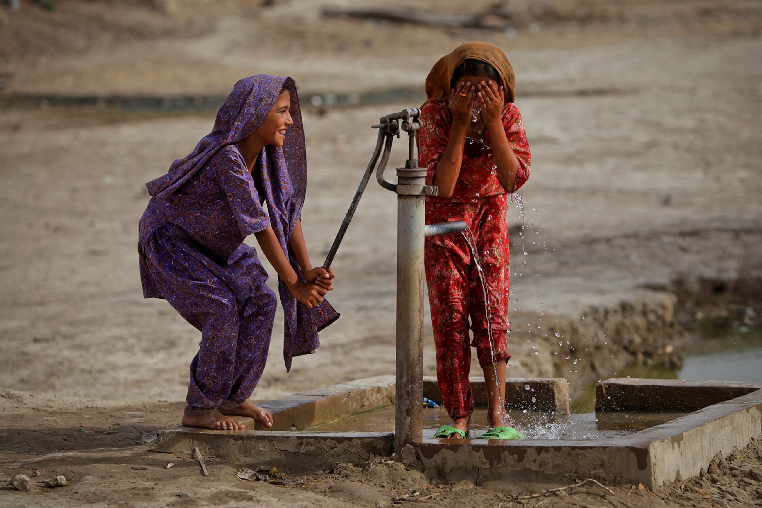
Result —
<instances>
[{"instance_id":1,"label":"shallow splashing water inside the concrete basin at the girl's feet","mask_svg":"<svg viewBox=\"0 0 762 508\"><path fill-rule=\"evenodd\" d=\"M431 438L442 425L450 423L443 407L425 408L424 439ZM674 420L685 413L588 413L559 415L536 411L509 411L511 427L527 434L527 439L606 439L627 436ZM477 407L473 414L471 431L479 436L487 430L487 410ZM394 432L394 407L384 407L325 423L308 429L315 432Z\"/></svg>"}]
</instances>

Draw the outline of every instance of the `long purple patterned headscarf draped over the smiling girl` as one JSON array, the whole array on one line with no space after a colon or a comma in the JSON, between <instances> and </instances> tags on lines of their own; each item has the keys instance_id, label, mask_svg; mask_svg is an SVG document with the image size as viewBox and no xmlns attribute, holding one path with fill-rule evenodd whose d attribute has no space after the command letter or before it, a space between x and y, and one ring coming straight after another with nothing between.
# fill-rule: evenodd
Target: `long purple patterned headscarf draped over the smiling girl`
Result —
<instances>
[{"instance_id":1,"label":"long purple patterned headscarf draped over the smiling girl","mask_svg":"<svg viewBox=\"0 0 762 508\"><path fill-rule=\"evenodd\" d=\"M224 146L239 142L264 123L280 91L290 91L289 127L282 147L267 145L260 154L260 183L267 201L270 223L299 279L305 281L299 262L288 243L302 212L307 186L306 150L302 111L296 83L292 78L266 74L249 76L235 84L217 112L214 129L198 142L196 149L185 158L174 161L167 174L146 184L155 199L174 193L182 187L212 156ZM314 353L319 347L318 331L338 319L328 300L308 309L291 295L279 277L280 302L286 318L283 356L286 369L291 368L293 356Z\"/></svg>"}]
</instances>

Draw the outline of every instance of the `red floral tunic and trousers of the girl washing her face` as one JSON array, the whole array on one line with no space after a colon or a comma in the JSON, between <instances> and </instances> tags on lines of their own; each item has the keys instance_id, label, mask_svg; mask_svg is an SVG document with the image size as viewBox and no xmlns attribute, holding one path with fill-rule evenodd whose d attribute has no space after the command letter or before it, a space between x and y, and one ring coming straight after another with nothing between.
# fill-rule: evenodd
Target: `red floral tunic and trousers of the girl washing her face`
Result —
<instances>
[{"instance_id":1,"label":"red floral tunic and trousers of the girl washing her face","mask_svg":"<svg viewBox=\"0 0 762 508\"><path fill-rule=\"evenodd\" d=\"M519 162L511 190L514 192L529 178L532 155L516 105L505 104L501 117ZM450 139L452 115L446 102L431 101L421 110L421 120L419 161L421 167L428 168L426 183L431 185ZM498 181L489 133L482 155L478 158L463 155L453 196L426 198L427 224L463 220L469 225L482 260L491 304L492 348L479 273L465 238L452 234L426 238L426 282L437 349L437 380L444 406L453 418L467 417L473 412L470 346L476 348L482 367L511 357L507 351L510 276L507 203L507 193ZM469 327L473 333L470 344Z\"/></svg>"}]
</instances>

